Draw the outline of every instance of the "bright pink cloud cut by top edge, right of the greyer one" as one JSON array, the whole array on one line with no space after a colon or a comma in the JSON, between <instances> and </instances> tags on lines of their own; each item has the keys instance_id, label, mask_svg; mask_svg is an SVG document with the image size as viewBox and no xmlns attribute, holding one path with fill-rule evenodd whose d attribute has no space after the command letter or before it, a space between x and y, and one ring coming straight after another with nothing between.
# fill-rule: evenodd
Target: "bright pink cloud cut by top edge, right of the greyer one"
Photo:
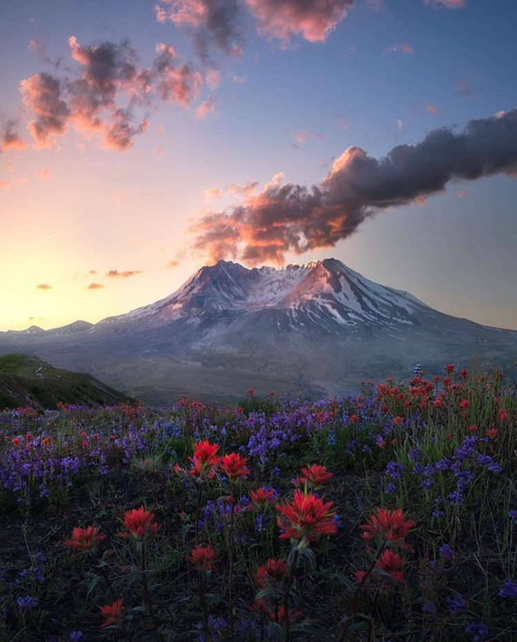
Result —
<instances>
[{"instance_id":1,"label":"bright pink cloud cut by top edge, right of the greyer one","mask_svg":"<svg viewBox=\"0 0 517 642\"><path fill-rule=\"evenodd\" d=\"M288 41L301 34L323 42L343 20L353 0L245 0L257 21L259 34Z\"/></svg>"}]
</instances>

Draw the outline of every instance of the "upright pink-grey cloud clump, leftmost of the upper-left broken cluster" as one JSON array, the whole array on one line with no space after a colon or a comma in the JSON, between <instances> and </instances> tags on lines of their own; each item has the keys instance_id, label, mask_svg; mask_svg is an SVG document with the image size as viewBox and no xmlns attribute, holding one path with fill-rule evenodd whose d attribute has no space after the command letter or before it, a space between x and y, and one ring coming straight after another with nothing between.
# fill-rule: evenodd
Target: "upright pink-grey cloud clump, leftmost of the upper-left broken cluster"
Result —
<instances>
[{"instance_id":1,"label":"upright pink-grey cloud clump, leftmost of the upper-left broken cluster","mask_svg":"<svg viewBox=\"0 0 517 642\"><path fill-rule=\"evenodd\" d=\"M50 74L35 74L20 82L20 91L23 104L36 117L28 123L34 147L53 147L55 137L65 132L70 118L61 81Z\"/></svg>"}]
</instances>

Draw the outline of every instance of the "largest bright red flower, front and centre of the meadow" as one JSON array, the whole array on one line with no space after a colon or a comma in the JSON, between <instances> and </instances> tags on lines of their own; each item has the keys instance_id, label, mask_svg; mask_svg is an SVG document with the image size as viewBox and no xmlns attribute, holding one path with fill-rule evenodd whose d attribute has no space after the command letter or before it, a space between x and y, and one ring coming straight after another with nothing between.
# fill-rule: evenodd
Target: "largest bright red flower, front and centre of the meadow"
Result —
<instances>
[{"instance_id":1,"label":"largest bright red flower, front and centre of the meadow","mask_svg":"<svg viewBox=\"0 0 517 642\"><path fill-rule=\"evenodd\" d=\"M276 520L282 531L280 539L317 541L321 535L334 535L338 526L332 501L323 502L314 494L295 490L292 501L276 506L280 515Z\"/></svg>"}]
</instances>

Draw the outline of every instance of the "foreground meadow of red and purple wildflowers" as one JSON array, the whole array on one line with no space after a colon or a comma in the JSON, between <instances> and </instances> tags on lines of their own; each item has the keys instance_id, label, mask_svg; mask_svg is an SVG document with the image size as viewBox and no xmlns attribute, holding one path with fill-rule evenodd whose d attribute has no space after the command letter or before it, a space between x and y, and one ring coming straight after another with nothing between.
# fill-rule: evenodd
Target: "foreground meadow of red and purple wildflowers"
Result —
<instances>
[{"instance_id":1,"label":"foreground meadow of red and purple wildflowers","mask_svg":"<svg viewBox=\"0 0 517 642\"><path fill-rule=\"evenodd\" d=\"M517 640L516 388L0 412L0 640Z\"/></svg>"}]
</instances>

